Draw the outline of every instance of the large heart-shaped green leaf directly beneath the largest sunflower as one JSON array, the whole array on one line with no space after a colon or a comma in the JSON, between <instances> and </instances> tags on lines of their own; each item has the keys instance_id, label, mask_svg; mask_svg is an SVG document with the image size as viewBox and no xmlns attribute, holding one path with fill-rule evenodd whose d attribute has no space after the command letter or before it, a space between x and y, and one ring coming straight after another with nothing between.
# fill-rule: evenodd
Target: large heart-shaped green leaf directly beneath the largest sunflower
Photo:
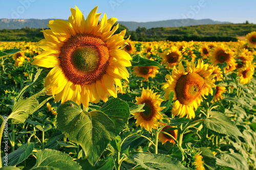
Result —
<instances>
[{"instance_id":1,"label":"large heart-shaped green leaf directly beneath the largest sunflower","mask_svg":"<svg viewBox=\"0 0 256 170\"><path fill-rule=\"evenodd\" d=\"M97 111L83 111L72 101L57 110L59 130L69 140L79 143L88 161L94 165L108 143L123 129L130 116L129 106L113 98Z\"/></svg>"}]
</instances>

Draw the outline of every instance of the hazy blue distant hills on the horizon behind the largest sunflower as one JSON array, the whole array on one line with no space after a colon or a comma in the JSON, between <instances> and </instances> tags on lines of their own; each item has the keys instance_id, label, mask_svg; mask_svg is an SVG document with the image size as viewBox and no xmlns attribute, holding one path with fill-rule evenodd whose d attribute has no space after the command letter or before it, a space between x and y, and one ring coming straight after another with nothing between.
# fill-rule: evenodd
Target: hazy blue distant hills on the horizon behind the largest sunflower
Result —
<instances>
[{"instance_id":1,"label":"hazy blue distant hills on the horizon behind the largest sunflower","mask_svg":"<svg viewBox=\"0 0 256 170\"><path fill-rule=\"evenodd\" d=\"M21 28L49 28L47 24L54 19L0 19L0 30L2 29L21 29ZM138 27L145 27L146 29L157 27L181 27L181 26L196 26L196 25L215 25L231 22L220 22L211 19L171 19L163 21L152 22L130 22L118 21L120 25L126 26L130 31L135 31Z\"/></svg>"}]
</instances>

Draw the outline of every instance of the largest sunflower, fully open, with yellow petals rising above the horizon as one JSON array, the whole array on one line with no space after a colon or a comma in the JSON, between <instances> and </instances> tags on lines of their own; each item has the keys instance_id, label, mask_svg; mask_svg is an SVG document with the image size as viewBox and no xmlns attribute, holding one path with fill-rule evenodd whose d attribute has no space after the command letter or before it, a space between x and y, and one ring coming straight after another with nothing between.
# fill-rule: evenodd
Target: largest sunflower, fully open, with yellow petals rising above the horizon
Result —
<instances>
[{"instance_id":1,"label":"largest sunflower, fully open, with yellow petals rising above the horizon","mask_svg":"<svg viewBox=\"0 0 256 170\"><path fill-rule=\"evenodd\" d=\"M114 34L116 18L103 18L95 7L84 19L81 11L71 8L69 20L49 21L50 30L43 30L45 39L39 45L45 50L32 64L52 68L45 80L46 94L54 101L72 100L89 106L89 102L108 101L117 97L114 86L122 88L120 79L128 81L131 56L119 49L126 44L125 30ZM113 28L112 28L113 27Z\"/></svg>"}]
</instances>

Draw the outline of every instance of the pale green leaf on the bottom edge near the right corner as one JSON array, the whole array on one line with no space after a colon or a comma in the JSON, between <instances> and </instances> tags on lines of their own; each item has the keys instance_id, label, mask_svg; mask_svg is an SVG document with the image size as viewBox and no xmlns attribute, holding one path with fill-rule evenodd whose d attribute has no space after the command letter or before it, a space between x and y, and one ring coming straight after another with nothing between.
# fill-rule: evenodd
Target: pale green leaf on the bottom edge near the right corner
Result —
<instances>
[{"instance_id":1,"label":"pale green leaf on the bottom edge near the right corner","mask_svg":"<svg viewBox=\"0 0 256 170\"><path fill-rule=\"evenodd\" d=\"M223 167L231 167L234 170L248 170L247 161L237 153L223 154L221 159L216 159L216 164Z\"/></svg>"}]
</instances>

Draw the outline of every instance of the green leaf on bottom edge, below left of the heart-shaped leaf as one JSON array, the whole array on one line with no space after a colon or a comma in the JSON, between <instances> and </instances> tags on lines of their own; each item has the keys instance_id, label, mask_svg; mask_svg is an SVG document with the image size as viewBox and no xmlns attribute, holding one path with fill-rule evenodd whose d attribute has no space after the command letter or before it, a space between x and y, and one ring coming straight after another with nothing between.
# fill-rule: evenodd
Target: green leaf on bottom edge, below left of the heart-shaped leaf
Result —
<instances>
[{"instance_id":1,"label":"green leaf on bottom edge, below left of the heart-shaped leaf","mask_svg":"<svg viewBox=\"0 0 256 170\"><path fill-rule=\"evenodd\" d=\"M31 169L81 169L81 166L65 153L56 150L40 150L36 154L36 164Z\"/></svg>"}]
</instances>

